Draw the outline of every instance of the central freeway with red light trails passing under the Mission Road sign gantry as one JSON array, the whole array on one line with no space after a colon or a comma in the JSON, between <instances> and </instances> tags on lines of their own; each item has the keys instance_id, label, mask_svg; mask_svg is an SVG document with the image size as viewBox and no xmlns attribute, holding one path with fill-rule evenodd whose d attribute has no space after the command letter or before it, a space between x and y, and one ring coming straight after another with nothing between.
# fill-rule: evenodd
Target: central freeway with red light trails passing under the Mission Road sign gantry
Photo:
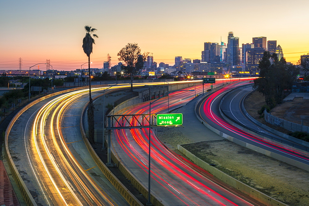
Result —
<instances>
[{"instance_id":1,"label":"central freeway with red light trails passing under the Mission Road sign gantry","mask_svg":"<svg viewBox=\"0 0 309 206\"><path fill-rule=\"evenodd\" d=\"M219 83L214 84L218 86ZM186 88L187 89L194 89ZM197 92L202 85L195 87ZM209 89L209 87L205 88ZM170 94L170 110L192 100L194 92ZM166 113L167 99L151 105L151 113ZM133 107L125 114L149 113L149 103ZM185 121L185 120L184 120ZM251 198L239 194L206 171L168 150L151 132L151 193L164 205L255 205ZM118 159L148 187L148 129L114 130L113 150Z\"/></svg>"}]
</instances>

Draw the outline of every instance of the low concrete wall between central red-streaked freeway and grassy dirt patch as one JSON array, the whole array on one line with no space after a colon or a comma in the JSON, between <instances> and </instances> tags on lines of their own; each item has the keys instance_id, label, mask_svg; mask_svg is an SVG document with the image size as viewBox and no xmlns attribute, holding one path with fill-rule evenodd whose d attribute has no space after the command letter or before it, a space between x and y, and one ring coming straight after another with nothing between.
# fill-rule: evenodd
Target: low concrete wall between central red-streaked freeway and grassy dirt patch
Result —
<instances>
[{"instance_id":1,"label":"low concrete wall between central red-streaked freeway and grassy dirt patch","mask_svg":"<svg viewBox=\"0 0 309 206\"><path fill-rule=\"evenodd\" d=\"M192 162L197 164L197 166L205 169L210 174L214 175L218 179L222 180L223 182L227 183L228 185L234 187L235 189L239 190L240 192L243 192L244 194L254 198L255 200L258 200L260 203L263 203L265 205L286 205L276 199L273 199L270 196L265 195L264 193L240 182L239 180L225 174L224 172L218 170L217 168L210 166L208 163L204 162L203 160L199 159L197 156L193 155L191 152L186 150L181 145L177 146L178 150L184 154L186 157L188 157Z\"/></svg>"}]
</instances>

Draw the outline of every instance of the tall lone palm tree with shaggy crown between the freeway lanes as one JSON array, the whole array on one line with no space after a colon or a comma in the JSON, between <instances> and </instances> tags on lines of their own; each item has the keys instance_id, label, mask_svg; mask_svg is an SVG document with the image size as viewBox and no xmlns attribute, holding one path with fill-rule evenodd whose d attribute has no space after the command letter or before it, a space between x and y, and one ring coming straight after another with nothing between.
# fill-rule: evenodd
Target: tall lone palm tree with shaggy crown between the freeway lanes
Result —
<instances>
[{"instance_id":1,"label":"tall lone palm tree with shaggy crown between the freeway lanes","mask_svg":"<svg viewBox=\"0 0 309 206\"><path fill-rule=\"evenodd\" d=\"M88 74L89 74L89 105L88 105L88 138L91 144L94 143L94 136L95 136L95 125L94 125L94 106L93 101L91 98L91 79L90 79L90 54L92 53L92 45L95 43L95 40L92 38L96 37L97 35L93 34L96 31L95 28L91 28L89 26L85 26L85 30L87 31L84 39L83 39L83 50L85 54L88 56ZM91 36L92 35L92 36Z\"/></svg>"}]
</instances>

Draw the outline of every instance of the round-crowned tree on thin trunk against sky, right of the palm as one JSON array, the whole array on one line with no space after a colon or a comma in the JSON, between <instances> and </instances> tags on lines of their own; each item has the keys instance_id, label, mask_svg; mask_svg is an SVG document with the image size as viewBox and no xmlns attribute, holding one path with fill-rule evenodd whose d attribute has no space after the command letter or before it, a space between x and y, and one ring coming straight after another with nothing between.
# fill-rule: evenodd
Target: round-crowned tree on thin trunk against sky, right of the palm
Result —
<instances>
[{"instance_id":1,"label":"round-crowned tree on thin trunk against sky, right of the palm","mask_svg":"<svg viewBox=\"0 0 309 206\"><path fill-rule=\"evenodd\" d=\"M138 75L140 70L144 68L144 61L148 54L149 52L141 54L141 49L138 47L137 43L128 43L117 54L117 56L119 56L118 60L124 61L125 63L125 65L121 66L122 70L130 76L131 92L133 92L134 76Z\"/></svg>"}]
</instances>

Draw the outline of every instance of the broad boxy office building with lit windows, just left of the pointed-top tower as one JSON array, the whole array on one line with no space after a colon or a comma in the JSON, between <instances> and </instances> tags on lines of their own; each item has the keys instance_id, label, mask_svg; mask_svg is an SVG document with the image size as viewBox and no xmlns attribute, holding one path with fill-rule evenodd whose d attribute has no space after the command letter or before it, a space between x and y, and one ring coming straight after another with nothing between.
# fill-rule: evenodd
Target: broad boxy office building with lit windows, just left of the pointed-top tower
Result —
<instances>
[{"instance_id":1,"label":"broad boxy office building with lit windows, just left of the pointed-top tower","mask_svg":"<svg viewBox=\"0 0 309 206\"><path fill-rule=\"evenodd\" d=\"M264 48L247 48L246 49L246 71L256 71L260 61L264 56Z\"/></svg>"}]
</instances>

